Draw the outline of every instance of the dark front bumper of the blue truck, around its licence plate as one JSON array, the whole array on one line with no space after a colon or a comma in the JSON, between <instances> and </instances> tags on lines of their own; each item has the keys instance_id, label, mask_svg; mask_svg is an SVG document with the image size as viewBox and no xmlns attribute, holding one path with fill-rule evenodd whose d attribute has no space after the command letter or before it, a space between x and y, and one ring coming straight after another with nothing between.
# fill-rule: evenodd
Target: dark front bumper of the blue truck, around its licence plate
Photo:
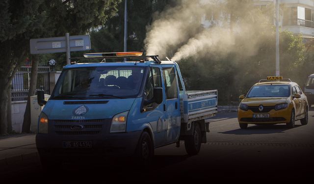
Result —
<instances>
[{"instance_id":1,"label":"dark front bumper of the blue truck, around its licence plate","mask_svg":"<svg viewBox=\"0 0 314 184\"><path fill-rule=\"evenodd\" d=\"M42 157L131 156L141 131L108 133L106 135L36 135L36 147ZM66 148L64 142L90 142L88 148Z\"/></svg>"}]
</instances>

